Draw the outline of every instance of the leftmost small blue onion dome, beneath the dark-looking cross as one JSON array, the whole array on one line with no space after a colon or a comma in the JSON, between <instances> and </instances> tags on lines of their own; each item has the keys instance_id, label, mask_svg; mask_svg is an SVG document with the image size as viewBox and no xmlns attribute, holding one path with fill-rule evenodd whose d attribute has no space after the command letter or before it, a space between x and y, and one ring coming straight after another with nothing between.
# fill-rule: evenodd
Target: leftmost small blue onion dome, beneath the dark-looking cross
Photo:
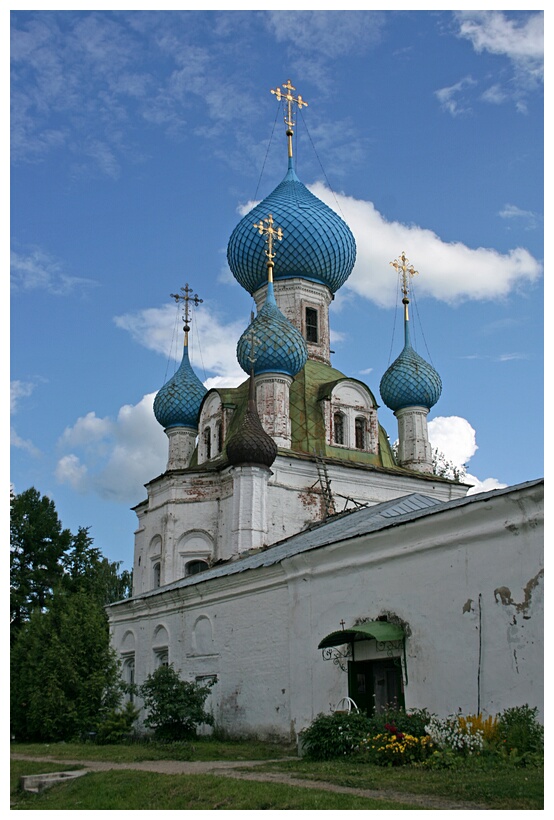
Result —
<instances>
[{"instance_id":1,"label":"leftmost small blue onion dome, beneath the dark-looking cross","mask_svg":"<svg viewBox=\"0 0 554 820\"><path fill-rule=\"evenodd\" d=\"M207 390L192 369L188 350L185 345L179 369L158 391L154 399L154 415L165 429L198 428L200 404Z\"/></svg>"}]
</instances>

